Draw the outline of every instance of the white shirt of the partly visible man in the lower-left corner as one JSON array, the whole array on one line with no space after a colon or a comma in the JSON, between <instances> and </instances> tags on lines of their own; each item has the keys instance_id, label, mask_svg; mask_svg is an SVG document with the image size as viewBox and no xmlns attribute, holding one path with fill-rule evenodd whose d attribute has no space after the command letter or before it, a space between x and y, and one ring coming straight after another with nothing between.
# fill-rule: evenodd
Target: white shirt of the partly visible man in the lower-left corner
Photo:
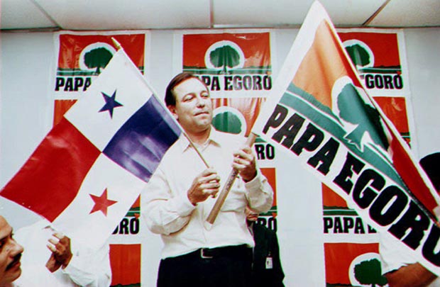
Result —
<instances>
[{"instance_id":1,"label":"white shirt of the partly visible man in the lower-left corner","mask_svg":"<svg viewBox=\"0 0 440 287\"><path fill-rule=\"evenodd\" d=\"M95 251L70 242L72 259L65 269L50 273L45 264L52 252L46 246L55 230L48 221L41 220L23 227L14 234L15 240L24 248L21 257L21 276L16 286L87 286L107 287L111 284L109 244Z\"/></svg>"}]
</instances>

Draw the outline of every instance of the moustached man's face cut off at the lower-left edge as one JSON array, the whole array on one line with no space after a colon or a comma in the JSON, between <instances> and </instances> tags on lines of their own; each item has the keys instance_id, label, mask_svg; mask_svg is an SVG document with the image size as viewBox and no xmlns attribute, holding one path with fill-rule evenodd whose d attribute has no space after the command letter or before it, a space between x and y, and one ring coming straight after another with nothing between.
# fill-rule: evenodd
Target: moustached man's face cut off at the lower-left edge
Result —
<instances>
[{"instance_id":1,"label":"moustached man's face cut off at the lower-left edge","mask_svg":"<svg viewBox=\"0 0 440 287\"><path fill-rule=\"evenodd\" d=\"M0 285L11 283L21 275L23 247L12 238L12 227L0 216Z\"/></svg>"}]
</instances>

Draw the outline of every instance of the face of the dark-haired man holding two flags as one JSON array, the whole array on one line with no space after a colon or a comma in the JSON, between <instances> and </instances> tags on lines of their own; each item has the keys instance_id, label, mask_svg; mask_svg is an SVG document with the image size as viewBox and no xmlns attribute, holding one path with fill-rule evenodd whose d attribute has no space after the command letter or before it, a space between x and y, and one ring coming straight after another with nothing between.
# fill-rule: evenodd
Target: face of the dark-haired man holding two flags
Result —
<instances>
[{"instance_id":1,"label":"face of the dark-haired man holding two flags","mask_svg":"<svg viewBox=\"0 0 440 287\"><path fill-rule=\"evenodd\" d=\"M209 130L212 102L207 87L199 79L189 78L173 89L176 105L170 111L187 133Z\"/></svg>"}]
</instances>

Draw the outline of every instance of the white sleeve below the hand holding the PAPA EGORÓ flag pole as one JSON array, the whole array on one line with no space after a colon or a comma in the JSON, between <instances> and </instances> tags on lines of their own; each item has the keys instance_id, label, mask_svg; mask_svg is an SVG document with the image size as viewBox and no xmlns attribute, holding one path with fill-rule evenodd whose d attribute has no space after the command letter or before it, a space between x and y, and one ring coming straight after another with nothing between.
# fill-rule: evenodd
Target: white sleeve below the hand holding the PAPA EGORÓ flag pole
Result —
<instances>
[{"instance_id":1,"label":"white sleeve below the hand holding the PAPA EGOR\u00d3 flag pole","mask_svg":"<svg viewBox=\"0 0 440 287\"><path fill-rule=\"evenodd\" d=\"M249 207L258 213L266 213L272 207L273 188L268 179L257 169L257 175L246 184Z\"/></svg>"}]
</instances>

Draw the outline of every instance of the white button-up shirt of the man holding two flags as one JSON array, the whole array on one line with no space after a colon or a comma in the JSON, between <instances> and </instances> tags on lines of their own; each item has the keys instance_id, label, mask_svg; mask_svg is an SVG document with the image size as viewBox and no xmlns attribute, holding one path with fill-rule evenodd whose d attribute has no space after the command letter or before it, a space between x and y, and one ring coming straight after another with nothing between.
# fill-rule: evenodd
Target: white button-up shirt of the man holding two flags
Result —
<instances>
[{"instance_id":1,"label":"white button-up shirt of the man holding two flags","mask_svg":"<svg viewBox=\"0 0 440 287\"><path fill-rule=\"evenodd\" d=\"M233 152L244 145L245 138L221 133L211 128L207 145L199 149L209 165L225 183L232 171ZM141 212L148 228L162 235L162 258L176 257L199 248L213 248L247 244L254 246L246 225L246 205L258 213L272 206L273 190L265 176L257 176L247 183L240 176L213 225L206 219L216 198L193 206L187 191L194 178L207 167L185 137L180 137L160 162L158 169L141 195Z\"/></svg>"}]
</instances>

